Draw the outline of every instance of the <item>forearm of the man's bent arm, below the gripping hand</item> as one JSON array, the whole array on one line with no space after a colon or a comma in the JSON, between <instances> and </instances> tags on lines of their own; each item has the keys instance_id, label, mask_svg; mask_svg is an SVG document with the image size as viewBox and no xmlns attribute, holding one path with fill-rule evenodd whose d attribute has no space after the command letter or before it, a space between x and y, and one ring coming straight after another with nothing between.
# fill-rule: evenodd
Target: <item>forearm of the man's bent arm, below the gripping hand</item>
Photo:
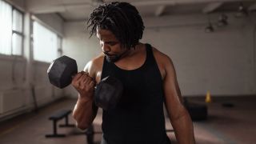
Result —
<instances>
[{"instance_id":1,"label":"forearm of the man's bent arm, below the gripping hand","mask_svg":"<svg viewBox=\"0 0 256 144\"><path fill-rule=\"evenodd\" d=\"M74 106L73 118L77 122L78 128L84 130L94 121L97 110L92 98L82 98L78 96L78 102Z\"/></svg>"}]
</instances>

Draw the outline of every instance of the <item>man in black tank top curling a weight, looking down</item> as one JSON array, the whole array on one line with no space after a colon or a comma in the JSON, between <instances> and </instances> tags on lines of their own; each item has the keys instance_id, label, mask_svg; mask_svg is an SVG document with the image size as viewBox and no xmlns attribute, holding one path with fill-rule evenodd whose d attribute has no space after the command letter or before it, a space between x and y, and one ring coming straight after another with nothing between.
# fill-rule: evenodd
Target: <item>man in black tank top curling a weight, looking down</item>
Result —
<instances>
[{"instance_id":1,"label":"man in black tank top curling a weight, looking down","mask_svg":"<svg viewBox=\"0 0 256 144\"><path fill-rule=\"evenodd\" d=\"M178 143L194 143L189 114L171 59L149 44L139 42L144 25L138 10L126 2L98 6L88 20L102 54L86 64L72 85L78 90L73 117L84 130L94 121L94 86L111 75L118 78L123 94L112 110L103 110L103 144L168 144L163 103Z\"/></svg>"}]
</instances>

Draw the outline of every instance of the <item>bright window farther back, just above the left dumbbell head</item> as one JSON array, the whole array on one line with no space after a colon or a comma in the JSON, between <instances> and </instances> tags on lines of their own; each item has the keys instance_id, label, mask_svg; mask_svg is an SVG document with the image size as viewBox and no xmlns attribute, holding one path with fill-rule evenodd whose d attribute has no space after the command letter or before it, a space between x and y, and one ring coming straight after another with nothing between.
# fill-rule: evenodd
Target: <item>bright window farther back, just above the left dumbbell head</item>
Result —
<instances>
[{"instance_id":1,"label":"bright window farther back, just above the left dumbbell head","mask_svg":"<svg viewBox=\"0 0 256 144\"><path fill-rule=\"evenodd\" d=\"M41 62L52 62L58 57L58 47L60 39L53 31L33 22L33 53L34 60Z\"/></svg>"}]
</instances>

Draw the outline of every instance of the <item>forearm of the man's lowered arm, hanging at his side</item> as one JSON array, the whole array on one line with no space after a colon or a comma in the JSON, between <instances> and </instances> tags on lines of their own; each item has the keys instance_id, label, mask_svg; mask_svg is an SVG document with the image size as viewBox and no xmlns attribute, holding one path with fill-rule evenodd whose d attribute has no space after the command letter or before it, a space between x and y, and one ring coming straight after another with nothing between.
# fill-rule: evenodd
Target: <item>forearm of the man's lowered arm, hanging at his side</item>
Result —
<instances>
[{"instance_id":1,"label":"forearm of the man's lowered arm, hanging at his side","mask_svg":"<svg viewBox=\"0 0 256 144\"><path fill-rule=\"evenodd\" d=\"M194 144L194 128L186 110L172 122L174 133L179 144Z\"/></svg>"}]
</instances>

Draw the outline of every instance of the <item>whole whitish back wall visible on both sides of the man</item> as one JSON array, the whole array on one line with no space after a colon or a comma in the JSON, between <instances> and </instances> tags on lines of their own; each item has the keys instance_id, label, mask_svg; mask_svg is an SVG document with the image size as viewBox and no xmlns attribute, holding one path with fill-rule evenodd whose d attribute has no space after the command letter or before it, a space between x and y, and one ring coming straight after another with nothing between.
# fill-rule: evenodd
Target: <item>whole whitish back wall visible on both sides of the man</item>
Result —
<instances>
[{"instance_id":1,"label":"whole whitish back wall visible on both sides of the man","mask_svg":"<svg viewBox=\"0 0 256 144\"><path fill-rule=\"evenodd\" d=\"M211 16L215 32L205 33L205 15L143 18L142 42L149 42L173 59L182 94L186 96L255 94L254 25L250 18L228 14L229 26L218 28L218 14ZM90 38L86 22L65 23L64 54L78 62L79 70L100 52ZM74 90L72 94L76 95Z\"/></svg>"}]
</instances>

